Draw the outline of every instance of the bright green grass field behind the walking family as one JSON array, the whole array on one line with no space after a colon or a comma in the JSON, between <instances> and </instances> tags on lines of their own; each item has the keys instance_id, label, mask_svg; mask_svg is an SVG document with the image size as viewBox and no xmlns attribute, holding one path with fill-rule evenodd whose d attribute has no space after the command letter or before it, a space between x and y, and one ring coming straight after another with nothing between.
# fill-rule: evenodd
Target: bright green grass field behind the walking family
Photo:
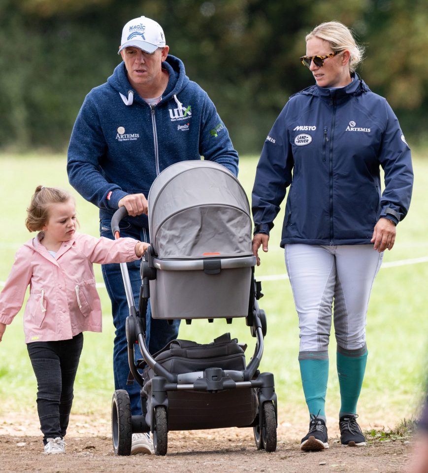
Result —
<instances>
[{"instance_id":1,"label":"bright green grass field behind the walking family","mask_svg":"<svg viewBox=\"0 0 428 473\"><path fill-rule=\"evenodd\" d=\"M381 419L394 411L397 418L409 418L419 405L427 372L428 341L428 263L391 267L392 262L428 256L428 219L426 189L428 160L424 152L414 152L415 187L408 217L397 228L393 251L387 252L384 267L374 283L367 317L369 357L360 414ZM0 155L0 281L7 277L17 248L31 237L24 226L26 207L36 185L66 188L76 197L81 232L98 235L98 211L70 189L66 178L66 157L40 155ZM251 195L257 165L256 157L241 158L239 178ZM282 217L278 216L270 238L267 254L257 276L285 274L283 250L279 248ZM102 282L100 268L97 281ZM73 412L109 415L114 391L112 375L113 325L105 289L99 289L103 306L104 332L85 334L85 345L76 378ZM264 298L260 306L268 320L262 371L275 375L279 408L305 408L298 371L298 324L288 280L263 283ZM249 344L251 355L254 339L243 320L232 325L223 321L208 324L197 321L182 324L181 338L208 342L230 331L233 337ZM327 411L336 413L339 407L338 381L335 371L335 341L330 343L330 375ZM35 409L36 383L24 344L22 313L7 327L0 344L0 415L8 411ZM393 426L390 426L393 427Z\"/></svg>"}]
</instances>

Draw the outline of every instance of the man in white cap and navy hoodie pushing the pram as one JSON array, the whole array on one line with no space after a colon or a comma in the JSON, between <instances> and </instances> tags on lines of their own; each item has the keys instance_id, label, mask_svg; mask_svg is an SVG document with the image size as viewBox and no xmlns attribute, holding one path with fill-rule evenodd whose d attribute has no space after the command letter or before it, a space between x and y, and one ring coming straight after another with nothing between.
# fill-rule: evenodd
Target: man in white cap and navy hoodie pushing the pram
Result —
<instances>
[{"instance_id":1,"label":"man in white cap and navy hoodie pushing the pram","mask_svg":"<svg viewBox=\"0 0 428 473\"><path fill-rule=\"evenodd\" d=\"M173 163L203 156L237 174L238 155L214 104L189 80L183 63L168 52L158 23L144 16L129 21L119 48L123 62L105 84L87 95L74 124L68 148L69 182L99 207L102 236L113 238L111 217L125 206L129 216L121 222L120 235L149 241L146 197L156 176ZM137 304L139 262L128 264L128 269ZM129 310L120 267L104 265L102 274L116 328L115 388L128 391L132 415L138 415L139 386L127 386ZM178 325L179 321L168 325L165 320L151 320L147 311L147 344L152 354L177 337ZM132 453L150 453L142 437L133 434Z\"/></svg>"}]
</instances>

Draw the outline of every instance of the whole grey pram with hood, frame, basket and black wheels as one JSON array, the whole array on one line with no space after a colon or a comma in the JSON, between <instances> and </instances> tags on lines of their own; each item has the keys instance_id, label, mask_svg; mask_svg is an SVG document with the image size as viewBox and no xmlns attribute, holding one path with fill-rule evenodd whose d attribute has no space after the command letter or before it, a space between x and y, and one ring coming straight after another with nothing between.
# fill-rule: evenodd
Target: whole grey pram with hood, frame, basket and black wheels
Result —
<instances>
[{"instance_id":1,"label":"whole grey pram with hood, frame, basket and black wheels","mask_svg":"<svg viewBox=\"0 0 428 473\"><path fill-rule=\"evenodd\" d=\"M155 179L148 196L151 246L141 262L137 308L126 264L121 265L130 316L128 358L141 386L141 415L131 415L128 393L112 401L112 434L118 455L131 453L132 433L153 433L155 452L165 455L170 430L253 427L258 449L276 449L277 405L272 373L260 373L266 317L254 278L251 216L239 181L209 161L176 163ZM127 215L113 216L113 235ZM210 344L173 340L156 355L145 333L147 301L155 319L245 318L256 338L246 365L244 348L230 334ZM141 316L140 316L141 314ZM138 343L143 359L135 360Z\"/></svg>"}]
</instances>

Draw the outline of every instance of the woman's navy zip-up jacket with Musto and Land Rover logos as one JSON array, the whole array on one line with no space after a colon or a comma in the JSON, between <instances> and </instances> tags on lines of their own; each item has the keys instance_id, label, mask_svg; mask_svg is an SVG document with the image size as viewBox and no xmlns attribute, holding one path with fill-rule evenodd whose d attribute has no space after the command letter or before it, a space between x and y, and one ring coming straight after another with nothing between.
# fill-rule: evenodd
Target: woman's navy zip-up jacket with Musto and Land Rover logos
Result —
<instances>
[{"instance_id":1,"label":"woman's navy zip-up jacket with Musto and Land Rover logos","mask_svg":"<svg viewBox=\"0 0 428 473\"><path fill-rule=\"evenodd\" d=\"M370 244L380 217L405 217L412 185L410 148L387 101L357 74L343 88L314 85L290 98L264 142L254 233L269 234L290 186L282 247Z\"/></svg>"}]
</instances>

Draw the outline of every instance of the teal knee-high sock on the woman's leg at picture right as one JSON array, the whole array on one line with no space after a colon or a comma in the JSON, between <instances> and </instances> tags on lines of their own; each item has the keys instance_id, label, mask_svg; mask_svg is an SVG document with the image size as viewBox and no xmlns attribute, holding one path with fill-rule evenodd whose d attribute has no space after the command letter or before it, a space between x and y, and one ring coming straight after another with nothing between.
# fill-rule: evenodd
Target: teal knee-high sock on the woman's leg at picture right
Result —
<instances>
[{"instance_id":1,"label":"teal knee-high sock on the woman's leg at picture right","mask_svg":"<svg viewBox=\"0 0 428 473\"><path fill-rule=\"evenodd\" d=\"M341 401L339 416L356 414L367 362L367 348L364 347L363 350L344 350L337 347L337 349L336 364Z\"/></svg>"}]
</instances>

